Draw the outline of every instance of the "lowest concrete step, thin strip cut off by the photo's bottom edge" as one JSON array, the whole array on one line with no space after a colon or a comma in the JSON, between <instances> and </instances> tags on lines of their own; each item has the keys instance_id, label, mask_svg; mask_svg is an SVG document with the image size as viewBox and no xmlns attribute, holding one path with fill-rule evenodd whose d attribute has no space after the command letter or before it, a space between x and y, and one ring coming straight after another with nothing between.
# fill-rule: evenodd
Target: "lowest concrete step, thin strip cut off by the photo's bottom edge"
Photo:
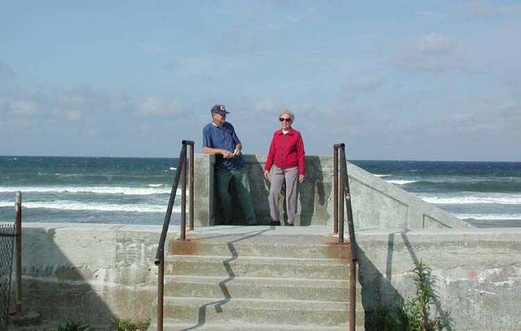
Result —
<instances>
[{"instance_id":1,"label":"lowest concrete step, thin strip cut off by the photo's bottom edge","mask_svg":"<svg viewBox=\"0 0 521 331\"><path fill-rule=\"evenodd\" d=\"M157 325L152 323L149 331L156 331ZM290 325L290 324L255 324L255 323L164 323L165 331L347 331L347 326L317 326L317 325ZM356 331L363 331L357 327Z\"/></svg>"}]
</instances>

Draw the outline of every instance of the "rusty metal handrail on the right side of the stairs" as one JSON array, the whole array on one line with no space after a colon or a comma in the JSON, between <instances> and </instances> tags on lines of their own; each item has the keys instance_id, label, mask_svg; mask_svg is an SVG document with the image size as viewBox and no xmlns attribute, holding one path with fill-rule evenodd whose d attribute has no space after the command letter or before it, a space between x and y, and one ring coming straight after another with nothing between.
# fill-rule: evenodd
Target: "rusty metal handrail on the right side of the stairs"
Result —
<instances>
[{"instance_id":1,"label":"rusty metal handrail on the right side of the stairs","mask_svg":"<svg viewBox=\"0 0 521 331\"><path fill-rule=\"evenodd\" d=\"M338 178L338 151L340 151L340 178ZM347 176L347 161L345 159L345 144L333 145L333 231L338 233L338 242L344 243L344 201L338 200L338 187L344 191L347 212L347 230L349 232L349 248L351 261L349 263L349 330L354 331L356 325L356 238L354 236L353 210L349 177Z\"/></svg>"}]
</instances>

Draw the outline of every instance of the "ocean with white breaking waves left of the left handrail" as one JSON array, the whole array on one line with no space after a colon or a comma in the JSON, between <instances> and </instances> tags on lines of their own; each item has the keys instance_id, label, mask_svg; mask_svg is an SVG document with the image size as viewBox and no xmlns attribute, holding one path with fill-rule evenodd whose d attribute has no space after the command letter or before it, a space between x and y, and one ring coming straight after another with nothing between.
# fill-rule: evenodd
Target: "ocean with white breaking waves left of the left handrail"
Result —
<instances>
[{"instance_id":1,"label":"ocean with white breaking waves left of the left handrail","mask_svg":"<svg viewBox=\"0 0 521 331\"><path fill-rule=\"evenodd\" d=\"M0 221L13 217L21 191L24 222L162 224L176 166L169 158L0 157Z\"/></svg>"}]
</instances>

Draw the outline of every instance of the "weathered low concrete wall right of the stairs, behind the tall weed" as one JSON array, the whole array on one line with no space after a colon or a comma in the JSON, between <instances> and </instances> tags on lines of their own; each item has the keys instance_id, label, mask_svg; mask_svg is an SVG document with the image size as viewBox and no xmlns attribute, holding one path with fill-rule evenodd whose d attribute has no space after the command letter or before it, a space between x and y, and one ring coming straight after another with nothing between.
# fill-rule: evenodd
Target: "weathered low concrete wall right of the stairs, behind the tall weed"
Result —
<instances>
[{"instance_id":1,"label":"weathered low concrete wall right of the stairs, behind the tall weed","mask_svg":"<svg viewBox=\"0 0 521 331\"><path fill-rule=\"evenodd\" d=\"M521 330L521 229L361 230L365 309L415 296L420 260L435 277L433 312L453 330Z\"/></svg>"}]
</instances>

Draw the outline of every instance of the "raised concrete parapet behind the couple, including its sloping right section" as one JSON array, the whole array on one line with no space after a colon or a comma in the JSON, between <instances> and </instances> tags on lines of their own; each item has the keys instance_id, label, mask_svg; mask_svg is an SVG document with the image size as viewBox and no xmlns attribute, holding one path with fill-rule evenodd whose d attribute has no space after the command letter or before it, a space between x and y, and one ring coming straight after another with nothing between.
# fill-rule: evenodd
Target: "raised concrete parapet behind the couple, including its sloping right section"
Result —
<instances>
[{"instance_id":1,"label":"raised concrete parapet behind the couple, including its sloping right section","mask_svg":"<svg viewBox=\"0 0 521 331\"><path fill-rule=\"evenodd\" d=\"M270 182L263 176L266 156L244 156L257 221L259 224L267 224L270 222L270 207L267 203ZM215 155L197 154L194 163L195 223L199 226L213 226L220 219L219 200L214 187ZM348 162L347 171L352 193L353 219L357 228L472 227L354 164ZM282 199L280 210L281 220L287 219L283 214ZM236 223L242 222L238 208L235 209L233 219ZM306 156L306 178L299 185L295 223L300 226L333 225L333 156Z\"/></svg>"}]
</instances>

